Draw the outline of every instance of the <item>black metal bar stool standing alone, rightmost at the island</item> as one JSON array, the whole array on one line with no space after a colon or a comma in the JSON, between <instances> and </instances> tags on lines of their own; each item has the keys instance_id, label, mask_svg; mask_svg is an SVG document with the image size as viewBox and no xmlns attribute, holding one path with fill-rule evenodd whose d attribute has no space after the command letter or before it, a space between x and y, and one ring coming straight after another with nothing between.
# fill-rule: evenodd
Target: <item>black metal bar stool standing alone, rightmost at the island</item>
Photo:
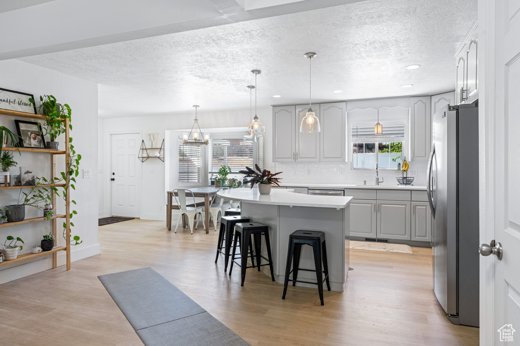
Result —
<instances>
[{"instance_id":1,"label":"black metal bar stool standing alone, rightmost at the island","mask_svg":"<svg viewBox=\"0 0 520 346\"><path fill-rule=\"evenodd\" d=\"M302 245L310 245L313 247L315 269L300 268ZM293 265L293 270L291 270L291 262ZM323 272L321 271L322 265ZM297 280L298 270L315 271L317 282ZM289 275L291 273L293 273L293 276L292 279L289 280ZM324 278L322 274L324 274ZM330 290L325 233L320 231L297 230L289 235L289 249L287 251L287 265L285 265L285 281L283 283L282 299L285 299L285 293L287 293L287 285L289 284L289 281L292 281L293 286L296 286L297 282L318 285L318 293L320 295L321 305L323 305L323 281L327 282L327 289Z\"/></svg>"}]
</instances>

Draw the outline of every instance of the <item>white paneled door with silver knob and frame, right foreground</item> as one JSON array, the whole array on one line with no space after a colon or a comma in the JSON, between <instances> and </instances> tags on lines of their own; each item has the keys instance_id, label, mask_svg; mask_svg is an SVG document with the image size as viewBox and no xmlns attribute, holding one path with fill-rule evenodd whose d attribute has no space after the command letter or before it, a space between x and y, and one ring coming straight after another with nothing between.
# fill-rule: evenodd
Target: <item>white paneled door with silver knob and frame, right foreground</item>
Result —
<instances>
[{"instance_id":1,"label":"white paneled door with silver knob and frame, right foreground","mask_svg":"<svg viewBox=\"0 0 520 346\"><path fill-rule=\"evenodd\" d=\"M520 1L486 0L481 5L481 15L486 13L479 23L484 25L479 38L485 39L485 68L494 70L483 74L486 145L481 152L489 169L484 168L481 181L486 196L480 238L488 245L495 239L503 252L501 260L493 254L480 257L481 344L520 345Z\"/></svg>"}]
</instances>

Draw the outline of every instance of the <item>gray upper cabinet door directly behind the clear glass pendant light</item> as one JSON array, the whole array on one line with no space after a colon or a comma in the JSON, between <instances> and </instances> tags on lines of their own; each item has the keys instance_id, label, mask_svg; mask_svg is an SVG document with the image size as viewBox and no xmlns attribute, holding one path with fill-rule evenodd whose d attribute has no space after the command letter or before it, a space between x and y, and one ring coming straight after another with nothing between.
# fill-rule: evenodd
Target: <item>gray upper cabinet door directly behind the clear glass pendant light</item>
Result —
<instances>
[{"instance_id":1,"label":"gray upper cabinet door directly behind the clear glass pendant light","mask_svg":"<svg viewBox=\"0 0 520 346\"><path fill-rule=\"evenodd\" d=\"M320 120L320 105L312 106L314 113L318 120ZM318 162L320 160L320 133L302 133L300 132L300 124L302 119L307 114L309 105L296 105L296 124L295 124L295 138L296 138L296 162ZM321 123L320 123L321 124ZM323 130L323 128L322 128Z\"/></svg>"}]
</instances>

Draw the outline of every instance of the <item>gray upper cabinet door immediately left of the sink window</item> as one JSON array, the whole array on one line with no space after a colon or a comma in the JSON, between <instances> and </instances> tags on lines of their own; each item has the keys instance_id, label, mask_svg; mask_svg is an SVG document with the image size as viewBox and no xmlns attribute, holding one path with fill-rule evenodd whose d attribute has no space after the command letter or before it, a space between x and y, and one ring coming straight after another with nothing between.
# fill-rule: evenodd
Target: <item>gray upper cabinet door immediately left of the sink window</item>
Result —
<instances>
[{"instance_id":1,"label":"gray upper cabinet door immediately left of the sink window","mask_svg":"<svg viewBox=\"0 0 520 346\"><path fill-rule=\"evenodd\" d=\"M344 162L346 146L345 102L320 104L320 161Z\"/></svg>"}]
</instances>

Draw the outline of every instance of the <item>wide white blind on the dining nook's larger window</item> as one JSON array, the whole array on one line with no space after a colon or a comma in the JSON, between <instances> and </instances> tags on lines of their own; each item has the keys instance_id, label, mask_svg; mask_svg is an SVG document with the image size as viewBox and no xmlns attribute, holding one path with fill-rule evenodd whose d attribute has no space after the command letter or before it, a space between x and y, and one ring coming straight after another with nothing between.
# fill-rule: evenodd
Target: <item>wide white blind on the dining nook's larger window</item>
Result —
<instances>
[{"instance_id":1,"label":"wide white blind on the dining nook's larger window","mask_svg":"<svg viewBox=\"0 0 520 346\"><path fill-rule=\"evenodd\" d=\"M238 173L246 166L253 167L256 143L243 139L212 139L209 145L209 171L216 173L223 165L228 165L232 173ZM262 154L263 156L263 154Z\"/></svg>"}]
</instances>

